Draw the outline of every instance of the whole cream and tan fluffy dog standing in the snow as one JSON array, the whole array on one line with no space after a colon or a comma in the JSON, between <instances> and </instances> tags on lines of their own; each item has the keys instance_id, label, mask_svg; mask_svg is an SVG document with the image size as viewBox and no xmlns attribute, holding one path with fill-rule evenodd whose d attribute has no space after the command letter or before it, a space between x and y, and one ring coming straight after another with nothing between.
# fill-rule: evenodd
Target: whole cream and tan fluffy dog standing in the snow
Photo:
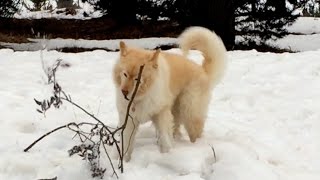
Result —
<instances>
[{"instance_id":1,"label":"whole cream and tan fluffy dog standing in the snow","mask_svg":"<svg viewBox=\"0 0 320 180\"><path fill-rule=\"evenodd\" d=\"M129 119L124 130L126 161L131 158L139 124L148 120L156 127L161 152L168 152L173 137L180 136L180 124L191 142L202 134L211 90L223 75L227 51L214 32L202 27L188 28L178 39L183 55L120 42L120 58L113 70L119 126L125 120L126 98L131 98L139 68L145 65L131 112L133 120ZM202 52L202 66L187 59L190 49Z\"/></svg>"}]
</instances>

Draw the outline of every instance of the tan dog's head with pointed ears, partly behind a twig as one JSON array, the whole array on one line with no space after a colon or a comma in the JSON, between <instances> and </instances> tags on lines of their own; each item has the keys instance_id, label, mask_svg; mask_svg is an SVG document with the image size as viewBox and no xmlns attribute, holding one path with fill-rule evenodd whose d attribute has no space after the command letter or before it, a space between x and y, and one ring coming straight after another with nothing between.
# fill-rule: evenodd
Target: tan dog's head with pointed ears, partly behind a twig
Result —
<instances>
[{"instance_id":1,"label":"tan dog's head with pointed ears, partly behind a twig","mask_svg":"<svg viewBox=\"0 0 320 180\"><path fill-rule=\"evenodd\" d=\"M158 56L160 50L151 51L128 47L120 42L120 58L113 69L113 79L117 91L121 91L124 98L130 99L139 75L140 66L144 65L140 86L136 99L140 99L148 92L158 71Z\"/></svg>"}]
</instances>

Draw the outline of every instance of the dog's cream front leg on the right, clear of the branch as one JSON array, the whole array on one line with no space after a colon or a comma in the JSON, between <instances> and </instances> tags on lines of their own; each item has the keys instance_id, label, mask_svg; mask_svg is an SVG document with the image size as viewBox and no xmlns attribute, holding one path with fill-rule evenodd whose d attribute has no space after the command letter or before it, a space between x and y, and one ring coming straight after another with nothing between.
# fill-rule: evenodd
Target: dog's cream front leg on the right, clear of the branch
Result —
<instances>
[{"instance_id":1,"label":"dog's cream front leg on the right, clear of the branch","mask_svg":"<svg viewBox=\"0 0 320 180\"><path fill-rule=\"evenodd\" d=\"M153 118L156 127L158 144L161 153L169 152L173 141L173 116L169 108L165 108Z\"/></svg>"}]
</instances>

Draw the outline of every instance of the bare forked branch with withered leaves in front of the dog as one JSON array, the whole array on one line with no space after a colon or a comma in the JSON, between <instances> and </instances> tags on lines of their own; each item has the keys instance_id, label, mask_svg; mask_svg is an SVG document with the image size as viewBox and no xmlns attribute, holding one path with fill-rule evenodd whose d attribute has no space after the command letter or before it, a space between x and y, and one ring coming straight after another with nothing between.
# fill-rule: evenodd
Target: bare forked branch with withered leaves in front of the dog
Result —
<instances>
[{"instance_id":1,"label":"bare forked branch with withered leaves in front of the dog","mask_svg":"<svg viewBox=\"0 0 320 180\"><path fill-rule=\"evenodd\" d=\"M43 58L43 57L41 57L41 58ZM124 129L126 128L126 125L128 123L128 119L130 118L133 121L133 118L130 115L130 109L133 104L134 98L137 94L139 85L141 83L141 76L142 76L144 65L140 66L138 78L136 79L137 82L136 82L132 97L129 100L129 103L127 105L127 112L126 112L124 124L120 127L112 128L112 127L105 125L100 119L95 117L92 113L89 113L86 109L84 109L83 107L81 107L80 105L78 105L77 103L72 101L71 96L67 95L67 93L65 93L62 90L61 86L56 82L56 71L61 64L61 61L62 61L61 59L58 59L52 68L47 68L47 69L44 67L44 63L42 64L43 70L45 71L45 73L47 74L47 77L48 77L48 84L53 83L53 90L54 91L53 91L53 96L50 97L49 100L38 101L38 100L34 99L35 102L41 107L41 110L37 109L37 111L39 113L45 114L45 112L48 109L50 109L51 107L59 108L60 105L62 104L62 101L67 101L68 103L77 107L78 109L83 111L85 114L87 114L89 117L94 119L96 121L96 123L81 122L81 123L77 124L75 122L72 122L72 123L68 123L66 125L57 127L55 129L51 130L50 132L44 134L43 136L41 136L36 141L34 141L31 145L29 145L27 148L24 149L24 152L29 151L35 144L37 144L39 141L41 141L46 136L49 136L53 132L56 132L56 131L64 129L64 128L68 128L70 131L75 133L74 137L79 137L79 139L82 143L81 145L74 146L72 149L69 150L70 156L73 154L78 154L81 157L87 158L90 162L92 176L93 177L98 176L98 177L102 178L103 174L106 170L106 169L101 168L100 163L99 163L100 147L102 146L102 148L104 149L104 151L108 157L110 165L112 167L113 174L115 174L116 177L118 178L118 174L113 166L113 163L111 161L111 158L109 156L109 153L108 153L105 145L109 145L109 146L115 145L116 146L116 149L117 149L119 156L120 156L118 168L121 170L121 173L123 173L123 170L124 170L123 156L126 152L126 151L124 151L124 145L123 145L123 133L124 133ZM100 107L99 107L99 109L100 109ZM83 126L83 125L91 126L90 132L82 130L80 128L80 126ZM135 128L135 124L134 124L134 128ZM121 141L121 147L122 147L121 149L122 150L120 149L120 145L118 144L118 141L115 137L115 134L117 134L117 132L119 132L119 131L121 132L121 140L122 140ZM93 139L94 136L98 136L99 137L98 140ZM131 136L130 136L130 139L131 139ZM86 144L84 144L84 143L86 143Z\"/></svg>"}]
</instances>

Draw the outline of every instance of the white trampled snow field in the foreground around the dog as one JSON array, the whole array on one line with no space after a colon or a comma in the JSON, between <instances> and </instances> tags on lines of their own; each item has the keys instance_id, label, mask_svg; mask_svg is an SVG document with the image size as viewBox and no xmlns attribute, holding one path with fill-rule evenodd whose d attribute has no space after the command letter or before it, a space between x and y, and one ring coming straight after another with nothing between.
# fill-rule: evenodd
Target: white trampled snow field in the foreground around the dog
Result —
<instances>
[{"instance_id":1,"label":"white trampled snow field in the foreground around the dog","mask_svg":"<svg viewBox=\"0 0 320 180\"><path fill-rule=\"evenodd\" d=\"M43 54L46 66L57 58L71 65L57 72L61 86L111 126L117 123L111 78L117 56L118 52L104 50ZM51 93L40 51L1 49L0 57L0 179L91 179L88 164L77 155L68 156L67 150L78 141L67 130L23 152L57 126L91 119L67 103L51 109L46 117L36 112L33 98L47 98ZM197 63L202 59L198 51L190 57ZM161 154L154 128L144 124L120 179L320 179L320 50L230 51L228 57L227 73L214 90L203 137L193 144L184 132L169 153ZM116 178L107 171L104 179Z\"/></svg>"}]
</instances>

